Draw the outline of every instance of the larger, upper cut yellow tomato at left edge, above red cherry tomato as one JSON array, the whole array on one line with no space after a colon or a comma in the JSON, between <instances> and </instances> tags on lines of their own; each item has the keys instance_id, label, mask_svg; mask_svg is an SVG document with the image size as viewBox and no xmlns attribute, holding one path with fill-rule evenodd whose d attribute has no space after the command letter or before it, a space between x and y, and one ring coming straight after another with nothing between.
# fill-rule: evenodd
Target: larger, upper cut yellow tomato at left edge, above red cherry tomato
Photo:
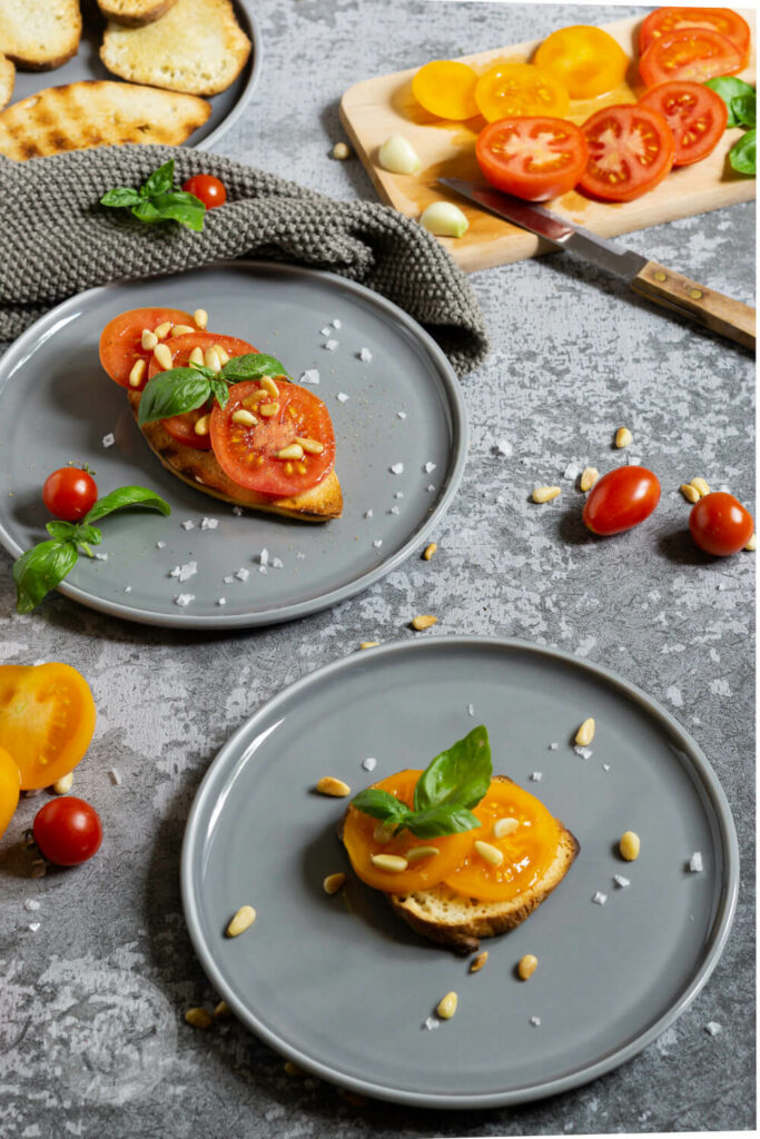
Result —
<instances>
[{"instance_id":1,"label":"larger, upper cut yellow tomato at left edge, above red cherry tomato","mask_svg":"<svg viewBox=\"0 0 760 1139\"><path fill-rule=\"evenodd\" d=\"M68 664L0 665L0 747L13 755L23 790L72 771L95 731L95 700Z\"/></svg>"}]
</instances>

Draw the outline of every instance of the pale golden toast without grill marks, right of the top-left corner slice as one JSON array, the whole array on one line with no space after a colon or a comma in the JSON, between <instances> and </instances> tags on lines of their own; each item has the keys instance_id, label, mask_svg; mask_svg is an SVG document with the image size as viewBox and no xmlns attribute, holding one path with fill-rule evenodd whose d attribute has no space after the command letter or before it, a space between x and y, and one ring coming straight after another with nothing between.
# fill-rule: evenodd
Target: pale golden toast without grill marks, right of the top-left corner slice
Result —
<instances>
[{"instance_id":1,"label":"pale golden toast without grill marks, right of the top-left corner slice","mask_svg":"<svg viewBox=\"0 0 760 1139\"><path fill-rule=\"evenodd\" d=\"M100 48L114 75L189 95L226 91L250 54L251 41L230 0L177 0L165 16L144 27L112 22Z\"/></svg>"}]
</instances>

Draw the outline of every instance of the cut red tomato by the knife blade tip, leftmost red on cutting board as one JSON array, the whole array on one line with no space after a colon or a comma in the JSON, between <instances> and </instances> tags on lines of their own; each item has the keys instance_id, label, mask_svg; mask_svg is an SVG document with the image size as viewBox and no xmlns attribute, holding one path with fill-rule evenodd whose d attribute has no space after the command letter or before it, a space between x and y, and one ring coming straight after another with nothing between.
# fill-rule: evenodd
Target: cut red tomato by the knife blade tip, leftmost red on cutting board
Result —
<instances>
[{"instance_id":1,"label":"cut red tomato by the knife blade tip, leftmost red on cutting board","mask_svg":"<svg viewBox=\"0 0 760 1139\"><path fill-rule=\"evenodd\" d=\"M514 117L481 131L475 154L492 186L528 202L546 202L575 186L588 147L581 130L564 118Z\"/></svg>"}]
</instances>

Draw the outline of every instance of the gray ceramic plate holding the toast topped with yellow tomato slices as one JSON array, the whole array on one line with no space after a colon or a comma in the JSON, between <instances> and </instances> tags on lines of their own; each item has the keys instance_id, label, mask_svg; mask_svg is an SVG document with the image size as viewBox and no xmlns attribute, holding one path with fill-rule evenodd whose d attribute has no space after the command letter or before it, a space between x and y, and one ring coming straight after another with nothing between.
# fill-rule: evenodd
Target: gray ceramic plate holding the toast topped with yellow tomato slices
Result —
<instances>
[{"instance_id":1,"label":"gray ceramic plate holding the toast topped with yellow tomato slices","mask_svg":"<svg viewBox=\"0 0 760 1139\"><path fill-rule=\"evenodd\" d=\"M596 738L581 759L572 736L589 715ZM325 875L348 869L335 835L345 801L312 788L335 775L356 792L422 767L477 723L495 770L538 794L581 853L523 925L483 943L488 964L468 975L467 961L416 936L352 876L345 899L326 896ZM641 839L635 863L614 850L627 829ZM695 851L701 874L686 869ZM630 886L614 886L615 874ZM325 1080L427 1107L518 1104L634 1056L714 968L737 882L725 795L672 716L567 654L477 638L357 653L287 688L214 760L182 851L195 949L243 1023ZM226 939L245 902L255 925ZM526 952L539 967L523 983L514 967ZM426 1031L449 990L456 1017Z\"/></svg>"}]
</instances>

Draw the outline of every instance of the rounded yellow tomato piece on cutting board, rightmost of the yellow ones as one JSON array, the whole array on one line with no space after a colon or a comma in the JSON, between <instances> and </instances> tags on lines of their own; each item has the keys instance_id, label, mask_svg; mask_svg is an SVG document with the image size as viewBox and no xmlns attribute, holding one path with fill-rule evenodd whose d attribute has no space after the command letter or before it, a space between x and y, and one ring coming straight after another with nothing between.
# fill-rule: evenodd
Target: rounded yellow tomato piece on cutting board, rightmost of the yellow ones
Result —
<instances>
[{"instance_id":1,"label":"rounded yellow tomato piece on cutting board, rightmost of the yellow ones","mask_svg":"<svg viewBox=\"0 0 760 1139\"><path fill-rule=\"evenodd\" d=\"M553 32L533 58L564 84L571 99L594 99L614 91L626 79L629 64L612 35L586 24Z\"/></svg>"}]
</instances>

